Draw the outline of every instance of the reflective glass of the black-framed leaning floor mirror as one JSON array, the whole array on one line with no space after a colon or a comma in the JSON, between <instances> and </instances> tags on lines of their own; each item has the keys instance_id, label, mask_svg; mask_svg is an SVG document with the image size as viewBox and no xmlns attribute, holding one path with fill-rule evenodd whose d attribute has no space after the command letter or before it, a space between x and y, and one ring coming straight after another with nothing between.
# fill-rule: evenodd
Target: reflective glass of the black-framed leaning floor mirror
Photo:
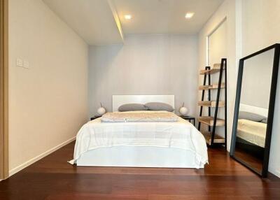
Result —
<instances>
[{"instance_id":1,"label":"reflective glass of the black-framed leaning floor mirror","mask_svg":"<svg viewBox=\"0 0 280 200\"><path fill-rule=\"evenodd\" d=\"M262 172L274 50L244 61L235 157Z\"/></svg>"}]
</instances>

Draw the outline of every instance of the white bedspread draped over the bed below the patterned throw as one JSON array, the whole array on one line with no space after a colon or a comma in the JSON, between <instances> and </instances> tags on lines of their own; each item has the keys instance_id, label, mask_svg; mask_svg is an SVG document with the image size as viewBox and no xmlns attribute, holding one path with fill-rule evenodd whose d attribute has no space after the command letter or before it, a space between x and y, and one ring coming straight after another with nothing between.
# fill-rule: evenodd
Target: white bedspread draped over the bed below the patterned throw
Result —
<instances>
[{"instance_id":1,"label":"white bedspread draped over the bed below the patterned throw","mask_svg":"<svg viewBox=\"0 0 280 200\"><path fill-rule=\"evenodd\" d=\"M102 123L100 118L87 122L78 131L73 160L69 163L76 163L89 150L113 146L180 148L193 152L198 165L208 162L204 136L180 117L178 122Z\"/></svg>"}]
</instances>

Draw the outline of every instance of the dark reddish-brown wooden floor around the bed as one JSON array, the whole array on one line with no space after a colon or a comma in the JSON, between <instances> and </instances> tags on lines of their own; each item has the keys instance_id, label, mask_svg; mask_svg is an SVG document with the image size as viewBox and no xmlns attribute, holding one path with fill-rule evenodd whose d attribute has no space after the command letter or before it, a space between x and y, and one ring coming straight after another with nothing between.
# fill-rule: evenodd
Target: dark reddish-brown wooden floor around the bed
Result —
<instances>
[{"instance_id":1,"label":"dark reddish-brown wooden floor around the bed","mask_svg":"<svg viewBox=\"0 0 280 200\"><path fill-rule=\"evenodd\" d=\"M0 199L280 199L280 180L262 180L223 150L205 169L76 167L73 143L0 182ZM19 155L20 156L20 155Z\"/></svg>"}]
</instances>

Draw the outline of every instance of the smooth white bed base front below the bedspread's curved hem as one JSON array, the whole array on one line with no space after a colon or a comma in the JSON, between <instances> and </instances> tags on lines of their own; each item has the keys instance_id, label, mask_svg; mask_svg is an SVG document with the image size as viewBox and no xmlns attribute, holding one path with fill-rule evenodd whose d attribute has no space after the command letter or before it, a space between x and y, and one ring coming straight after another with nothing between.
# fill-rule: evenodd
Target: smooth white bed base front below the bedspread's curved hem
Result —
<instances>
[{"instance_id":1,"label":"smooth white bed base front below the bedspread's curved hem","mask_svg":"<svg viewBox=\"0 0 280 200\"><path fill-rule=\"evenodd\" d=\"M195 153L179 148L115 146L89 150L77 159L77 166L127 166L203 169Z\"/></svg>"}]
</instances>

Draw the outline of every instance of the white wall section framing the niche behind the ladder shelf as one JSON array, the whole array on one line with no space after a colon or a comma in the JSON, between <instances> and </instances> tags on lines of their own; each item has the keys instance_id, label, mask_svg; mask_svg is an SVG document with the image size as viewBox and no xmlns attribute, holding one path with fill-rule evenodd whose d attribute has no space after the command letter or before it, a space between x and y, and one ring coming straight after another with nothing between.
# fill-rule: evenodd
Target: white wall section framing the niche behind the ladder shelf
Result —
<instances>
[{"instance_id":1,"label":"white wall section framing the niche behind the ladder shelf","mask_svg":"<svg viewBox=\"0 0 280 200\"><path fill-rule=\"evenodd\" d=\"M226 18L227 43L225 43L225 55L228 59L228 151L230 150L237 83L235 6L235 1L225 0L199 33L199 69L204 69L207 66L207 36ZM203 76L200 76L199 83L202 85ZM201 99L201 94L202 92L198 94L199 99Z\"/></svg>"}]
</instances>

